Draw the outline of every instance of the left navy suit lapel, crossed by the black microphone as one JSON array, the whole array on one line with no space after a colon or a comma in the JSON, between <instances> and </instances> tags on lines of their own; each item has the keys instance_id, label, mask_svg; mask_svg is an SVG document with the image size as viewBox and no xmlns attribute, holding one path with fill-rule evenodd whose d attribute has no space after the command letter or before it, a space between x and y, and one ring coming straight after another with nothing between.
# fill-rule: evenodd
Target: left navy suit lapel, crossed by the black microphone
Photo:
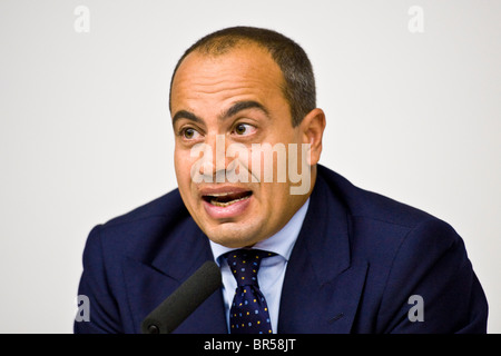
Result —
<instances>
[{"instance_id":1,"label":"left navy suit lapel, crossed by the black microphone","mask_svg":"<svg viewBox=\"0 0 501 356\"><path fill-rule=\"evenodd\" d=\"M124 260L124 276L135 329L143 319L173 294L206 260L213 260L207 237L188 219L165 236L155 256L137 251ZM222 291L207 298L175 333L227 333Z\"/></svg>"}]
</instances>

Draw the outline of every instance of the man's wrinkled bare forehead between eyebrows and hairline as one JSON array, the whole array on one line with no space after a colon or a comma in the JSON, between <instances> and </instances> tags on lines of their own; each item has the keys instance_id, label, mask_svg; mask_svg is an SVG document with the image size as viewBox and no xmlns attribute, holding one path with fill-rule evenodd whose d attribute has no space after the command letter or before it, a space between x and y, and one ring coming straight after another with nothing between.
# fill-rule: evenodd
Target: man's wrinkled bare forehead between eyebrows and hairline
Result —
<instances>
[{"instance_id":1,"label":"man's wrinkled bare forehead between eyebrows and hairline","mask_svg":"<svg viewBox=\"0 0 501 356\"><path fill-rule=\"evenodd\" d=\"M194 51L180 63L171 88L171 109L203 103L283 97L284 79L272 56L257 44L223 55Z\"/></svg>"}]
</instances>

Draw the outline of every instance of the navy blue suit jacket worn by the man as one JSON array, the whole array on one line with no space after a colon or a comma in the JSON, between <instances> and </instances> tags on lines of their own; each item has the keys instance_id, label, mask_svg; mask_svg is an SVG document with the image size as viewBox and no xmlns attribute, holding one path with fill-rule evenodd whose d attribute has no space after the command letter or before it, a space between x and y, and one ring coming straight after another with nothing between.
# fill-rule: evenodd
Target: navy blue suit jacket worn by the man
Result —
<instances>
[{"instance_id":1,"label":"navy blue suit jacket worn by the man","mask_svg":"<svg viewBox=\"0 0 501 356\"><path fill-rule=\"evenodd\" d=\"M89 298L90 322L76 322L75 332L140 333L146 315L213 258L178 190L95 227L78 291ZM413 295L422 297L423 322L409 318ZM175 332L227 333L224 313L217 290ZM278 333L485 333L487 317L452 227L318 166Z\"/></svg>"}]
</instances>

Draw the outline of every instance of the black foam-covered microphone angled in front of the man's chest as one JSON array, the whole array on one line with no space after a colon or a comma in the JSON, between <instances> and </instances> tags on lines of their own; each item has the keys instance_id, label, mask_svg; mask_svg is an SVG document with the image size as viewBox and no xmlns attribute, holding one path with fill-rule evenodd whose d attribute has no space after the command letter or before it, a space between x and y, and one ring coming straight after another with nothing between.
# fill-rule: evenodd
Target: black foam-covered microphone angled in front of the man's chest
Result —
<instances>
[{"instance_id":1,"label":"black foam-covered microphone angled in front of the man's chest","mask_svg":"<svg viewBox=\"0 0 501 356\"><path fill-rule=\"evenodd\" d=\"M143 334L169 334L222 286L219 267L208 260L141 323Z\"/></svg>"}]
</instances>

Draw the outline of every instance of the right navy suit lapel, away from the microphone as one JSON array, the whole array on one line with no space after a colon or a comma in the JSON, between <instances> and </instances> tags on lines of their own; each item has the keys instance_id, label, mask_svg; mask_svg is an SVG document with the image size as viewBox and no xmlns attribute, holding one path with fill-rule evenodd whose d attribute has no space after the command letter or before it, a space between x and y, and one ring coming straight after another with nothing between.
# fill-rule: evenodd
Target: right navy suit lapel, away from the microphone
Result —
<instances>
[{"instance_id":1,"label":"right navy suit lapel, away from the microphone","mask_svg":"<svg viewBox=\"0 0 501 356\"><path fill-rule=\"evenodd\" d=\"M318 176L282 289L279 333L351 332L366 264L352 265L347 211Z\"/></svg>"}]
</instances>

